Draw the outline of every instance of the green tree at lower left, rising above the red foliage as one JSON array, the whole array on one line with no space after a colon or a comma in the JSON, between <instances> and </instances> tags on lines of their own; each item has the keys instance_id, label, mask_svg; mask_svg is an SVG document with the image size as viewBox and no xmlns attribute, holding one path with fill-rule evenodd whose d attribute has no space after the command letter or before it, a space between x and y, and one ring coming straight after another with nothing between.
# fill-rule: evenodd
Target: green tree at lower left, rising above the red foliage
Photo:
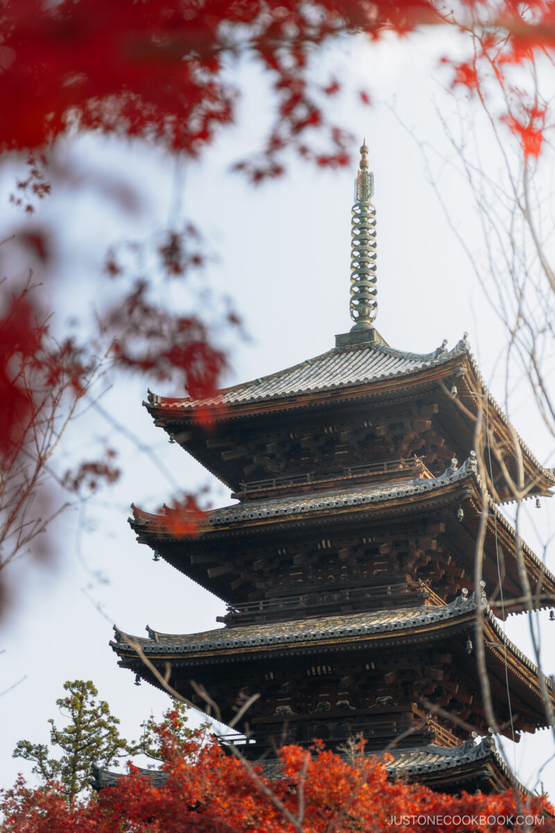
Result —
<instances>
[{"instance_id":1,"label":"green tree at lower left, rising above the red foliage","mask_svg":"<svg viewBox=\"0 0 555 833\"><path fill-rule=\"evenodd\" d=\"M31 741L19 741L12 756L33 761L32 771L43 781L62 781L67 800L73 803L75 796L89 789L93 764L117 766L118 758L135 755L141 748L121 737L120 721L111 715L106 701L95 700L98 691L92 681L67 681L63 687L67 695L56 703L67 725L58 729L52 718L48 721L50 743L62 750L62 756L51 758L46 744Z\"/></svg>"}]
</instances>

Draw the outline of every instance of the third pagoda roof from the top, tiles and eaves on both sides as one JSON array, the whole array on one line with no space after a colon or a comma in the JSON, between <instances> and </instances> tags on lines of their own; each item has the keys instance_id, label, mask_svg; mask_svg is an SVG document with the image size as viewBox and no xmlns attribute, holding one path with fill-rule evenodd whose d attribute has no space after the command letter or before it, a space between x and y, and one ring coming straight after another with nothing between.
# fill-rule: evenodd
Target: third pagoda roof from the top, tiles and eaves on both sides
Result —
<instances>
[{"instance_id":1,"label":"third pagoda roof from the top, tiles and eaves on both sides","mask_svg":"<svg viewBox=\"0 0 555 833\"><path fill-rule=\"evenodd\" d=\"M454 646L460 655L457 666L472 666L470 673L476 680L475 661L469 656L465 641L468 632L473 630L478 604L483 606L483 641L488 656L488 672L492 682L496 676L498 681L503 682L496 692L498 701L506 700L503 674L507 667L513 703L518 701L519 704L519 714L513 720L515 731L544 728L548 724L542 690L548 691L552 706L555 706L553 681L504 635L485 598L475 592L470 595L463 592L453 602L442 606L325 616L304 621L265 622L196 634L164 634L148 627L149 636L145 638L128 636L115 628L116 640L111 642L111 646L121 657L120 664L133 671L141 668L141 653L144 653L154 662L171 658L172 664L185 671L187 676L196 666L229 664L236 658L245 661L249 657L272 657L276 660L300 654L324 656L337 651L406 651L407 646L449 640L450 650ZM151 681L157 685L154 678Z\"/></svg>"}]
</instances>

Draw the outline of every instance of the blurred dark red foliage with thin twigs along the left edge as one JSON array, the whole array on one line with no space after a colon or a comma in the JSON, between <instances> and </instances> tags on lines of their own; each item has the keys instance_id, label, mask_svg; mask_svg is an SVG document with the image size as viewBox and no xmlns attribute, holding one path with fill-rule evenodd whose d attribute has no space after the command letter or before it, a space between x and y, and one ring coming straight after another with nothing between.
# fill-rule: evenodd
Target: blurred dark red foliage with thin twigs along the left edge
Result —
<instances>
[{"instance_id":1,"label":"blurred dark red foliage with thin twigs along the left edge","mask_svg":"<svg viewBox=\"0 0 555 833\"><path fill-rule=\"evenodd\" d=\"M91 371L72 339L52 337L36 292L30 283L12 297L6 292L0 316L0 616L3 568L30 550L50 555L42 533L59 510L41 486Z\"/></svg>"}]
</instances>

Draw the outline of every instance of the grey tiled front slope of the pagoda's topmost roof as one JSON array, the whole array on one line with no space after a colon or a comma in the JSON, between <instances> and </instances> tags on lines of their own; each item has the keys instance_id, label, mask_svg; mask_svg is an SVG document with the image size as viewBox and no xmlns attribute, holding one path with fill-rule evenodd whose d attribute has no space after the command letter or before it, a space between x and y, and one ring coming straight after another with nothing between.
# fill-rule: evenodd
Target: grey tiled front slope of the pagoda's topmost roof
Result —
<instances>
[{"instance_id":1,"label":"grey tiled front slope of the pagoda's topmost roof","mask_svg":"<svg viewBox=\"0 0 555 833\"><path fill-rule=\"evenodd\" d=\"M466 353L468 346L463 341L458 342L453 350L447 351L444 347L438 347L431 353L403 352L377 342L365 342L353 347L334 347L320 356L306 359L305 362L271 373L260 380L226 387L216 397L204 399L202 402L207 406L221 403L243 405L248 402L295 397L304 393L333 391L337 388L408 376ZM165 408L175 407L183 410L198 405L199 401L189 397L151 397L151 405L161 403Z\"/></svg>"}]
</instances>

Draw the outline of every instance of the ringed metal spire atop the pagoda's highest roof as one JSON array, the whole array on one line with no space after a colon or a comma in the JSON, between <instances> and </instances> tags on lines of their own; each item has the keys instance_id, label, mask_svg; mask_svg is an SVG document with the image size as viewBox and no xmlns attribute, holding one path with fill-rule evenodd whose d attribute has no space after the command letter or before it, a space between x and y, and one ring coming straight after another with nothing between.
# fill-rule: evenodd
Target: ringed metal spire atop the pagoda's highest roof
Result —
<instances>
[{"instance_id":1,"label":"ringed metal spire atop the pagoda's highest roof","mask_svg":"<svg viewBox=\"0 0 555 833\"><path fill-rule=\"evenodd\" d=\"M354 180L354 206L351 219L350 332L369 330L378 312L376 301L376 210L370 202L374 194L374 174L369 172L368 147L360 147L359 172Z\"/></svg>"}]
</instances>

